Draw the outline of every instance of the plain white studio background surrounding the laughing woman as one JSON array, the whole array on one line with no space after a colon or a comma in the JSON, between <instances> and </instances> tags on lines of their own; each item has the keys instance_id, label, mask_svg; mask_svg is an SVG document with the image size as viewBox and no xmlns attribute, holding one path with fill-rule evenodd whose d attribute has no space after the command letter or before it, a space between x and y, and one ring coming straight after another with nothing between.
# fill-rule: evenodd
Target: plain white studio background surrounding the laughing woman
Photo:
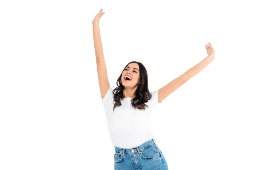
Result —
<instances>
[{"instance_id":1,"label":"plain white studio background surrounding the laughing woman","mask_svg":"<svg viewBox=\"0 0 256 170\"><path fill-rule=\"evenodd\" d=\"M155 91L215 59L152 114L171 170L256 169L253 1L0 2L0 169L113 170L92 21L108 79L142 62Z\"/></svg>"}]
</instances>

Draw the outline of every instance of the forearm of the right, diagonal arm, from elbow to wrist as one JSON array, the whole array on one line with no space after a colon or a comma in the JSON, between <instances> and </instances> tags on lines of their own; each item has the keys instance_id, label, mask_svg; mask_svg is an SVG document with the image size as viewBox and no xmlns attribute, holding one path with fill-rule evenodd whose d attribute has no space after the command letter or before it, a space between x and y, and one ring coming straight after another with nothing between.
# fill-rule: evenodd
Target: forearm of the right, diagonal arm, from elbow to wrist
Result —
<instances>
[{"instance_id":1,"label":"forearm of the right, diagonal arm, from elbow to wrist","mask_svg":"<svg viewBox=\"0 0 256 170\"><path fill-rule=\"evenodd\" d=\"M201 62L199 62L197 65L190 68L188 71L186 71L183 74L183 77L187 80L194 77L196 74L198 74L200 71L202 71L207 65L209 65L210 62L214 59L214 56L207 56L204 58Z\"/></svg>"}]
</instances>

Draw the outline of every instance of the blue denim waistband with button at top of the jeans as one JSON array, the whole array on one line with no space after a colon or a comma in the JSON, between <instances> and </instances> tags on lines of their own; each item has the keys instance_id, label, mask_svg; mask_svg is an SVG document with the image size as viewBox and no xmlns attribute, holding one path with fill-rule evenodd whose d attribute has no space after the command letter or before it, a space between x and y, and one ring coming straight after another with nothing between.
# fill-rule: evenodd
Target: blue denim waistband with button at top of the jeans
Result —
<instances>
[{"instance_id":1,"label":"blue denim waistband with button at top of the jeans","mask_svg":"<svg viewBox=\"0 0 256 170\"><path fill-rule=\"evenodd\" d=\"M131 149L126 149L126 148L121 148L121 147L115 147L115 152L117 154L120 154L122 156L125 156L125 153L126 154L131 154L131 153L135 153L135 152L138 152L140 153L140 151L146 149L147 147L150 147L151 145L155 144L155 139L150 139L148 140L147 142L141 144L140 146L137 146L137 147L134 147L134 148L131 148Z\"/></svg>"}]
</instances>

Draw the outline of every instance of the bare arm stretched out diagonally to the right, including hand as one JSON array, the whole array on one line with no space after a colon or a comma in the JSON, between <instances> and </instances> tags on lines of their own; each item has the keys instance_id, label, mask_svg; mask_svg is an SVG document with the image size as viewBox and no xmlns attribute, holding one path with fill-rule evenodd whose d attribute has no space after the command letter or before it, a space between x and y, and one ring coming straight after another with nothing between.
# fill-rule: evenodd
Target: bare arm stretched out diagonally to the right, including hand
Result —
<instances>
[{"instance_id":1,"label":"bare arm stretched out diagonally to the right, including hand","mask_svg":"<svg viewBox=\"0 0 256 170\"><path fill-rule=\"evenodd\" d=\"M186 81L194 77L196 74L198 74L200 71L202 71L207 65L209 65L210 62L214 59L215 51L212 48L211 43L209 43L209 46L206 44L206 51L208 56L204 58L201 62L199 62L197 65L190 68L188 71L186 71L184 74L180 75L176 79L169 82L164 87L160 88L158 91L158 102L162 102L163 99L165 99L167 96L172 94L177 88L179 88L181 85L183 85Z\"/></svg>"}]
</instances>

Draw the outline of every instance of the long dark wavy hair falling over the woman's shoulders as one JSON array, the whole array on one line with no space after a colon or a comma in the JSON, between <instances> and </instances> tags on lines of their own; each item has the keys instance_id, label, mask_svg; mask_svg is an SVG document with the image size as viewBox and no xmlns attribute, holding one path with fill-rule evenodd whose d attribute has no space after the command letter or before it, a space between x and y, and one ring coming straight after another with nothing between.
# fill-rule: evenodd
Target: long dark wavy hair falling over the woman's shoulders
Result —
<instances>
[{"instance_id":1,"label":"long dark wavy hair falling over the woman's shoulders","mask_svg":"<svg viewBox=\"0 0 256 170\"><path fill-rule=\"evenodd\" d=\"M130 63L137 63L140 67L140 82L137 84L138 87L135 91L135 98L131 99L131 105L134 108L138 108L140 110L145 110L145 103L148 102L149 99L151 99L152 94L149 92L148 90L148 73L146 68L144 67L144 65L141 62L136 62L136 61L132 61L129 62L125 68L130 64ZM125 70L125 68L123 69L123 71ZM122 72L123 72L122 71ZM117 87L114 88L114 90L112 91L113 93L113 99L115 101L114 107L113 107L113 111L117 106L121 106L121 100L124 98L123 96L123 90L124 90L124 86L122 85L121 82L122 79L122 73L120 74L119 78L116 81L116 85Z\"/></svg>"}]
</instances>

